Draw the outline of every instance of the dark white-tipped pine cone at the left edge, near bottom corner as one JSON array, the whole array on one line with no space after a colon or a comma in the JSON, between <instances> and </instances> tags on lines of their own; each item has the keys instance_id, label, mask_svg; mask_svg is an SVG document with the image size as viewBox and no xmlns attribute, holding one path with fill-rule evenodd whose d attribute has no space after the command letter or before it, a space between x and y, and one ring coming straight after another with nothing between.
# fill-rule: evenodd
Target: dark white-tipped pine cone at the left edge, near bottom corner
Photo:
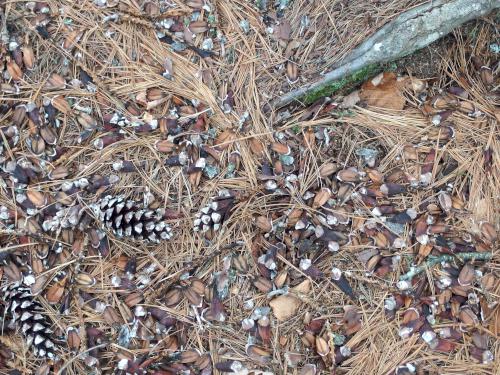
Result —
<instances>
[{"instance_id":1,"label":"dark white-tipped pine cone at the left edge, near bottom corner","mask_svg":"<svg viewBox=\"0 0 500 375\"><path fill-rule=\"evenodd\" d=\"M55 359L55 345L50 339L50 323L42 315L42 305L35 300L30 288L16 282L5 286L2 291L7 303L6 312L12 318L10 324L21 330L37 357Z\"/></svg>"}]
</instances>

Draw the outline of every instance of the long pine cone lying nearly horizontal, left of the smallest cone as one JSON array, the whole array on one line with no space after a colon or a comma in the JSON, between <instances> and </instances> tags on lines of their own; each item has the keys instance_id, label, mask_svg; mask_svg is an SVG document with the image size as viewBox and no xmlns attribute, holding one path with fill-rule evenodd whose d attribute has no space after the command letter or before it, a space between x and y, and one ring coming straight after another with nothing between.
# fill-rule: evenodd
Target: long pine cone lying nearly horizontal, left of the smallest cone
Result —
<instances>
[{"instance_id":1,"label":"long pine cone lying nearly horizontal, left of the smallest cone","mask_svg":"<svg viewBox=\"0 0 500 375\"><path fill-rule=\"evenodd\" d=\"M149 210L133 200L108 195L94 204L93 210L103 227L118 237L156 243L172 237L172 229L163 220L164 212L160 208Z\"/></svg>"}]
</instances>

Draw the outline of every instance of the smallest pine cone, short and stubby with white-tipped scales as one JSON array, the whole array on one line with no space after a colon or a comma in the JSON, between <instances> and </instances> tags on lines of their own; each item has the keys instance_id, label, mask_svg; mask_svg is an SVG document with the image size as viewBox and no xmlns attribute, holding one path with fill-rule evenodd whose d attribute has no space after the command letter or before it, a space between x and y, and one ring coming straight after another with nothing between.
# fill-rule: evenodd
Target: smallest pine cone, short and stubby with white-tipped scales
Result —
<instances>
[{"instance_id":1,"label":"smallest pine cone, short and stubby with white-tipped scales","mask_svg":"<svg viewBox=\"0 0 500 375\"><path fill-rule=\"evenodd\" d=\"M194 231L206 233L209 230L218 231L231 215L235 196L224 190L213 198L208 205L197 212L194 220Z\"/></svg>"}]
</instances>

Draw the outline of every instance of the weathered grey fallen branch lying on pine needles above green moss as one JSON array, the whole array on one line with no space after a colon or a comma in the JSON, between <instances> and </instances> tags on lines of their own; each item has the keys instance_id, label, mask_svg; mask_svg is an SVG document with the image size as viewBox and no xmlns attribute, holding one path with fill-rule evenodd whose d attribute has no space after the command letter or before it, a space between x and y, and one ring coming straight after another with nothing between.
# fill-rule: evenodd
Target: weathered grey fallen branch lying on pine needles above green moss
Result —
<instances>
[{"instance_id":1,"label":"weathered grey fallen branch lying on pine needles above green moss","mask_svg":"<svg viewBox=\"0 0 500 375\"><path fill-rule=\"evenodd\" d=\"M270 103L280 108L368 65L409 55L454 28L500 8L500 0L435 0L400 14L361 43L317 82L302 86Z\"/></svg>"}]
</instances>

